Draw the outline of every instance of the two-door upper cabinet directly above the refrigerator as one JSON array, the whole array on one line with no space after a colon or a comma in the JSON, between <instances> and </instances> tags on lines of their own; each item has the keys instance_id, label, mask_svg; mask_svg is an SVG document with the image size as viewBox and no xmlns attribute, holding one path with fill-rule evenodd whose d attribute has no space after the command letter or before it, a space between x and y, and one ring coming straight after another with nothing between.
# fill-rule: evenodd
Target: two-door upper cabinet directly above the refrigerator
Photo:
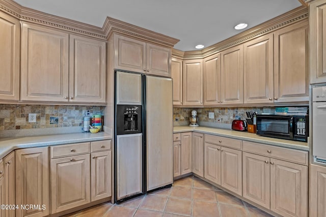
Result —
<instances>
[{"instance_id":1,"label":"two-door upper cabinet directly above the refrigerator","mask_svg":"<svg viewBox=\"0 0 326 217\"><path fill-rule=\"evenodd\" d=\"M115 69L171 77L171 49L115 35Z\"/></svg>"}]
</instances>

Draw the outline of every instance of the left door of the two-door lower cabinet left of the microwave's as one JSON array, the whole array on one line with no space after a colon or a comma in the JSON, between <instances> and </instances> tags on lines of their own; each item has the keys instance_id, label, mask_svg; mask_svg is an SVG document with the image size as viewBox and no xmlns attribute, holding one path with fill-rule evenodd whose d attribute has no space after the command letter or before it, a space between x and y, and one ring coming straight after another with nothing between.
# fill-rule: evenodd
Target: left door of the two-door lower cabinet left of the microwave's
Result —
<instances>
[{"instance_id":1,"label":"left door of the two-door lower cabinet left of the microwave's","mask_svg":"<svg viewBox=\"0 0 326 217\"><path fill-rule=\"evenodd\" d=\"M204 143L204 177L221 184L221 146Z\"/></svg>"}]
</instances>

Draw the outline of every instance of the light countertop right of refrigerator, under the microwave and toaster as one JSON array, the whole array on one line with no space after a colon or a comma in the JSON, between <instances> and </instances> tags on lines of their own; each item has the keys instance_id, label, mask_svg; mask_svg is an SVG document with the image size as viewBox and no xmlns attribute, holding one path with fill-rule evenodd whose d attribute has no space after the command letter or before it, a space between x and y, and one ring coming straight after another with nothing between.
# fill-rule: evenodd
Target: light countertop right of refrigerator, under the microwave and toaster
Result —
<instances>
[{"instance_id":1,"label":"light countertop right of refrigerator, under the microwave and toaster","mask_svg":"<svg viewBox=\"0 0 326 217\"><path fill-rule=\"evenodd\" d=\"M243 141L259 142L267 145L275 145L275 146L293 148L298 150L309 150L309 145L307 142L269 138L254 133L234 131L228 129L200 127L200 126L199 127L190 127L190 126L173 127L173 133L182 133L182 132L189 132L189 131L206 133L206 134L211 134L216 136L224 136L233 139L241 139Z\"/></svg>"}]
</instances>

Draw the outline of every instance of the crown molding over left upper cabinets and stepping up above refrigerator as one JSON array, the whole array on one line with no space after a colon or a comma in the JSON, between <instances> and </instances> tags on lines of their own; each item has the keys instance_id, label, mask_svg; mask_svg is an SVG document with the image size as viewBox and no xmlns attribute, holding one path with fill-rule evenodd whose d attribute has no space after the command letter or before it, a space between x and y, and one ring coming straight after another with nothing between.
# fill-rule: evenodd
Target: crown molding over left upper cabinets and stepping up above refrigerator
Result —
<instances>
[{"instance_id":1,"label":"crown molding over left upper cabinets and stepping up above refrigerator","mask_svg":"<svg viewBox=\"0 0 326 217\"><path fill-rule=\"evenodd\" d=\"M107 40L113 32L117 32L145 41L164 45L166 47L173 47L180 41L178 39L155 33L151 30L111 17L106 17L103 26L98 27L68 18L47 14L31 8L26 8L13 0L0 0L0 11L14 16L21 21L63 29L71 33L77 33L102 40Z\"/></svg>"}]
</instances>

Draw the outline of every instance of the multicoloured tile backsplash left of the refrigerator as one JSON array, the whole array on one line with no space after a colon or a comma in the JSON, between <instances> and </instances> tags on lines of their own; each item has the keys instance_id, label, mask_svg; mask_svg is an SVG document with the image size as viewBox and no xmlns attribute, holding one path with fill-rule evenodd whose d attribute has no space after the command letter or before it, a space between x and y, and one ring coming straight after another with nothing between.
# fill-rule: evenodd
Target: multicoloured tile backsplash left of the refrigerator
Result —
<instances>
[{"instance_id":1,"label":"multicoloured tile backsplash left of the refrigerator","mask_svg":"<svg viewBox=\"0 0 326 217\"><path fill-rule=\"evenodd\" d=\"M83 110L103 115L104 106L0 105L0 131L81 127ZM36 122L29 122L29 113Z\"/></svg>"}]
</instances>

